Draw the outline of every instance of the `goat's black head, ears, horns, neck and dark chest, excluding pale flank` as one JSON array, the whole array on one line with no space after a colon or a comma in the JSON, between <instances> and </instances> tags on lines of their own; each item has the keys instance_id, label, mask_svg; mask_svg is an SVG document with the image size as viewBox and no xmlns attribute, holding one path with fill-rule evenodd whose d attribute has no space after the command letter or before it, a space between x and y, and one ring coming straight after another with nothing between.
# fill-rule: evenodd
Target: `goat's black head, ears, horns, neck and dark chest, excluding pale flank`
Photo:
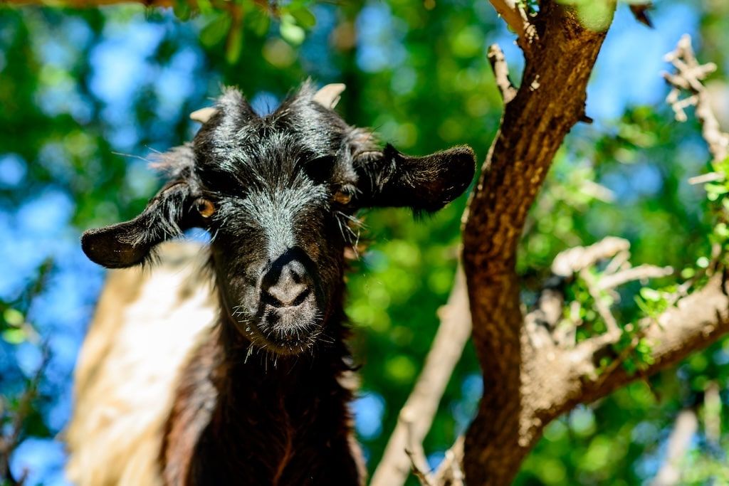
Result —
<instances>
[{"instance_id":1,"label":"goat's black head, ears, horns, neck and dark chest, excluding pale flank","mask_svg":"<svg viewBox=\"0 0 729 486\"><path fill-rule=\"evenodd\" d=\"M154 477L129 484L363 484L353 390L343 383L351 372L345 251L356 251L356 212L436 211L464 192L475 160L467 146L426 157L379 148L370 131L333 110L343 89L315 91L306 82L264 117L238 90L225 90L214 108L193 114L203 125L192 143L160 156L168 181L147 208L82 236L93 262L127 268L153 260L155 246L188 228L211 235L206 266L217 316L185 331L198 342L174 392L160 395L164 423L147 430L157 436ZM87 479L74 467L84 455L80 431L90 431L83 420L74 413L69 426L73 479L132 477L110 464L116 477Z\"/></svg>"}]
</instances>

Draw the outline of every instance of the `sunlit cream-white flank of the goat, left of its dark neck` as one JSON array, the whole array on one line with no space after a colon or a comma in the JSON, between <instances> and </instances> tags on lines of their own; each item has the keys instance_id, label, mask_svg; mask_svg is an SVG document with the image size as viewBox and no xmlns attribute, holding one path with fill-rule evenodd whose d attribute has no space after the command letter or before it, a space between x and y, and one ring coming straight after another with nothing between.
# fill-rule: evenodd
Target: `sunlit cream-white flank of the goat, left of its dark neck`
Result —
<instances>
[{"instance_id":1,"label":"sunlit cream-white flank of the goat, left of its dark neck","mask_svg":"<svg viewBox=\"0 0 729 486\"><path fill-rule=\"evenodd\" d=\"M149 270L112 270L82 345L66 430L79 486L162 485L158 457L180 369L217 318L206 255L165 243Z\"/></svg>"}]
</instances>

